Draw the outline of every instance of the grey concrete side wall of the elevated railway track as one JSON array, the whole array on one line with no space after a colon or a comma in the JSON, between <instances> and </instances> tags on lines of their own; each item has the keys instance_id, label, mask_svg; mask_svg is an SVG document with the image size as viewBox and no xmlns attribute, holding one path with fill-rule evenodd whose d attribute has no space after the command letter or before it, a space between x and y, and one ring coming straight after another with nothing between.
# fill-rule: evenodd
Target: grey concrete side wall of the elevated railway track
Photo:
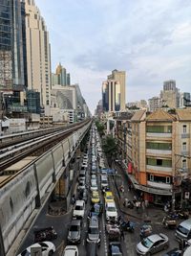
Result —
<instances>
[{"instance_id":1,"label":"grey concrete side wall of the elevated railway track","mask_svg":"<svg viewBox=\"0 0 191 256\"><path fill-rule=\"evenodd\" d=\"M67 139L47 151L31 166L20 171L0 189L0 223L5 251L8 252L18 233L30 218L37 205L49 197L65 163L70 161L69 151L80 143L89 125L80 128ZM48 193L49 192L49 193Z\"/></svg>"}]
</instances>

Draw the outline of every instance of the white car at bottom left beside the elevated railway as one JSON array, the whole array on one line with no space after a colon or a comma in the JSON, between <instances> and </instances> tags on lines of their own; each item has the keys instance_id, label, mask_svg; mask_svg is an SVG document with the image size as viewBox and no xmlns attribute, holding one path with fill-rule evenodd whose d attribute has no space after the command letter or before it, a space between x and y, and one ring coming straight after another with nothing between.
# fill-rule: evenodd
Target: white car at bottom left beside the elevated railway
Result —
<instances>
[{"instance_id":1,"label":"white car at bottom left beside the elevated railway","mask_svg":"<svg viewBox=\"0 0 191 256\"><path fill-rule=\"evenodd\" d=\"M50 256L53 255L53 252L55 251L55 245L52 242L39 242L36 244L32 244L31 246L27 247L27 249L23 250L20 254L17 256L30 256L32 247L41 246L42 248L42 256Z\"/></svg>"}]
</instances>

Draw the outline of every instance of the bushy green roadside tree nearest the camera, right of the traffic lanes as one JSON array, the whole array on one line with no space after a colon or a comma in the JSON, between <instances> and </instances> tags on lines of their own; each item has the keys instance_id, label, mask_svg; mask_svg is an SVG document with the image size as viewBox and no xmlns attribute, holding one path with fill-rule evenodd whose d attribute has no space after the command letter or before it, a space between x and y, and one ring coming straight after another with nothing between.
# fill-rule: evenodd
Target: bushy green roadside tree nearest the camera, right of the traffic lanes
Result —
<instances>
[{"instance_id":1,"label":"bushy green roadside tree nearest the camera, right of the traffic lanes","mask_svg":"<svg viewBox=\"0 0 191 256\"><path fill-rule=\"evenodd\" d=\"M116 140L111 135L107 135L103 141L102 148L106 154L108 164L111 166L113 158L117 155Z\"/></svg>"}]
</instances>

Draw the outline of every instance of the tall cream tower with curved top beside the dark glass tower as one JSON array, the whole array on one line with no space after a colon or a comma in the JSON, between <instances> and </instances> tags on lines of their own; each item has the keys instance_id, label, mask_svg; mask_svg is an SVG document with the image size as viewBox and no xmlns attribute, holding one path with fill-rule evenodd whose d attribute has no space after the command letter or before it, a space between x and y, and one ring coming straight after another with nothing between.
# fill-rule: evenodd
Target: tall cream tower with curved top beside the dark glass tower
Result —
<instances>
[{"instance_id":1,"label":"tall cream tower with curved top beside the dark glass tower","mask_svg":"<svg viewBox=\"0 0 191 256\"><path fill-rule=\"evenodd\" d=\"M25 2L28 88L40 92L40 105L51 104L49 32L33 0Z\"/></svg>"}]
</instances>

